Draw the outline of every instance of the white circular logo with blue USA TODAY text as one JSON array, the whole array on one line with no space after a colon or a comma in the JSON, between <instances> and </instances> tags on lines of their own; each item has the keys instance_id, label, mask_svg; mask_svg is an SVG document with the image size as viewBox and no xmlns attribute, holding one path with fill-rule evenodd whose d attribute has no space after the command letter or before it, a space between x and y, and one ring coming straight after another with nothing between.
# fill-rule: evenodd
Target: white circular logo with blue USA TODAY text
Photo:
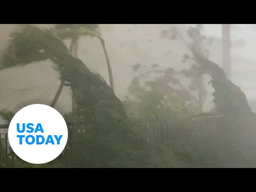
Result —
<instances>
[{"instance_id":1,"label":"white circular logo with blue USA TODAY text","mask_svg":"<svg viewBox=\"0 0 256 192\"><path fill-rule=\"evenodd\" d=\"M54 108L33 104L14 115L8 139L12 150L22 160L43 164L62 153L68 141L68 127Z\"/></svg>"}]
</instances>

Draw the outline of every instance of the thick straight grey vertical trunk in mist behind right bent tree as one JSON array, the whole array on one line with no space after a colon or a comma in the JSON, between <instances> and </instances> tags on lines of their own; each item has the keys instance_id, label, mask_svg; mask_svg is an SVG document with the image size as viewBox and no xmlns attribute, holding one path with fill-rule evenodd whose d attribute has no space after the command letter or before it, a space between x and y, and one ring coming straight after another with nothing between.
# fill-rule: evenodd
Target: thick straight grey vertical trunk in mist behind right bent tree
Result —
<instances>
[{"instance_id":1,"label":"thick straight grey vertical trunk in mist behind right bent tree","mask_svg":"<svg viewBox=\"0 0 256 192\"><path fill-rule=\"evenodd\" d=\"M231 68L231 43L230 24L222 24L222 68L230 80Z\"/></svg>"}]
</instances>

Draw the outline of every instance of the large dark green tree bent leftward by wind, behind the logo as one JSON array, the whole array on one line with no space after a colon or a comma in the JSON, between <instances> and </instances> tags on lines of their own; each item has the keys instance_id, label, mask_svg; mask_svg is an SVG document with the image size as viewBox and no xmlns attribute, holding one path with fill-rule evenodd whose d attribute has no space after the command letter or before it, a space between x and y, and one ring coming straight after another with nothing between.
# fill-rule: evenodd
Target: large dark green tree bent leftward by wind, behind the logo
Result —
<instances>
[{"instance_id":1,"label":"large dark green tree bent leftward by wind, behind the logo","mask_svg":"<svg viewBox=\"0 0 256 192\"><path fill-rule=\"evenodd\" d=\"M144 146L127 128L128 119L122 102L101 76L92 73L81 60L74 58L50 30L26 25L11 37L0 60L0 69L50 59L56 64L64 85L71 87L77 103L76 116L86 134L76 131L72 136L74 140L70 137L72 145L64 155L65 166L147 166L146 158L137 155L139 151L141 154ZM73 129L80 130L80 127ZM134 155L134 152L137 154Z\"/></svg>"}]
</instances>

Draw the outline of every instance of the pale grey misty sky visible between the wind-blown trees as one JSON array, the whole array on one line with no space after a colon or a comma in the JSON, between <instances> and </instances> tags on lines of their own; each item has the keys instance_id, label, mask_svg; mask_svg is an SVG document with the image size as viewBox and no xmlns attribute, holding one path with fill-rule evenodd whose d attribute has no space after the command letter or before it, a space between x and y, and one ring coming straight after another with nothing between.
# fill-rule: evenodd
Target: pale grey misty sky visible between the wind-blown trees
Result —
<instances>
[{"instance_id":1,"label":"pale grey misty sky visible between the wind-blown trees","mask_svg":"<svg viewBox=\"0 0 256 192\"><path fill-rule=\"evenodd\" d=\"M162 68L173 67L176 70L186 68L181 62L182 55L188 48L182 40L168 41L161 37L163 30L178 27L184 38L186 31L195 24L100 24L101 33L112 65L115 93L120 100L128 94L128 86L136 73L132 66L139 63L150 67L158 64ZM8 35L15 24L0 25L0 49L8 41ZM38 24L40 27L53 25ZM252 110L256 110L256 26L253 24L231 25L231 81L246 94ZM204 24L206 36L214 37L210 47L209 59L221 66L222 63L222 31L220 24ZM70 42L66 41L66 44ZM106 58L97 38L81 37L78 41L78 58L92 72L102 75L109 84ZM12 68L0 71L0 108L19 110L28 103L49 104L60 84L58 73L52 68L51 61L29 64L23 68ZM7 83L8 82L8 83ZM212 107L212 89L203 110ZM70 90L64 87L56 109L62 113L71 110Z\"/></svg>"}]
</instances>

